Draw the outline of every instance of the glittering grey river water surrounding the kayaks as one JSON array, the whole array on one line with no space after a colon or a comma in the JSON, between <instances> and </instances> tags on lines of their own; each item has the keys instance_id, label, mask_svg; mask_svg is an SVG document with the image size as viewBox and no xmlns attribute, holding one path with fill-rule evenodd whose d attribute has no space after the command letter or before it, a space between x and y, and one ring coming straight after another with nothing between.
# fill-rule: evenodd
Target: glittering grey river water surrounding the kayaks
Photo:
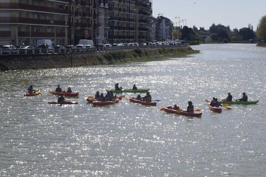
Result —
<instances>
[{"instance_id":1,"label":"glittering grey river water surrounding the kayaks","mask_svg":"<svg viewBox=\"0 0 266 177\"><path fill-rule=\"evenodd\" d=\"M200 54L125 65L1 72L0 176L265 176L266 48L255 44L202 44ZM24 97L27 85L43 96ZM126 100L94 107L96 91L151 88L157 106ZM60 84L80 91L77 105L51 105ZM205 99L240 98L215 113ZM142 93L141 96L145 94ZM186 109L200 118L168 114Z\"/></svg>"}]
</instances>

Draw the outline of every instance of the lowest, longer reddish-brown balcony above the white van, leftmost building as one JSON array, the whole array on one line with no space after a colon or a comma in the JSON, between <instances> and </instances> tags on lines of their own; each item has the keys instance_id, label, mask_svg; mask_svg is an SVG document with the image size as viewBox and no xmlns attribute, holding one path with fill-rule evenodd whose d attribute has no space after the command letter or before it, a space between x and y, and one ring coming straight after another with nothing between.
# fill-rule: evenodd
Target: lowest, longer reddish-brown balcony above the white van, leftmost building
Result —
<instances>
[{"instance_id":1,"label":"lowest, longer reddish-brown balcony above the white van, leftmost building","mask_svg":"<svg viewBox=\"0 0 266 177\"><path fill-rule=\"evenodd\" d=\"M31 36L30 36L31 35ZM18 32L18 37L36 37L36 38L40 38L40 37L46 37L46 38L65 38L66 37L66 33L46 33L46 32L26 32L26 31L19 31Z\"/></svg>"}]
</instances>

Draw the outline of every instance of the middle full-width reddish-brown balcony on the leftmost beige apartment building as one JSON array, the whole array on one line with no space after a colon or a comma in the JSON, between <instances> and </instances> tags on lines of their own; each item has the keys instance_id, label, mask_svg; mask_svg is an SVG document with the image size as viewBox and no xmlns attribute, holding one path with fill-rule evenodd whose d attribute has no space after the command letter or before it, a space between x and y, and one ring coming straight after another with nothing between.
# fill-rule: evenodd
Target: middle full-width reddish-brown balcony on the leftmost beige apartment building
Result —
<instances>
[{"instance_id":1,"label":"middle full-width reddish-brown balcony on the leftmost beige apartment building","mask_svg":"<svg viewBox=\"0 0 266 177\"><path fill-rule=\"evenodd\" d=\"M0 17L1 23L28 23L34 25L60 25L67 26L65 21L60 20L41 20L34 18L22 18L22 17Z\"/></svg>"}]
</instances>

